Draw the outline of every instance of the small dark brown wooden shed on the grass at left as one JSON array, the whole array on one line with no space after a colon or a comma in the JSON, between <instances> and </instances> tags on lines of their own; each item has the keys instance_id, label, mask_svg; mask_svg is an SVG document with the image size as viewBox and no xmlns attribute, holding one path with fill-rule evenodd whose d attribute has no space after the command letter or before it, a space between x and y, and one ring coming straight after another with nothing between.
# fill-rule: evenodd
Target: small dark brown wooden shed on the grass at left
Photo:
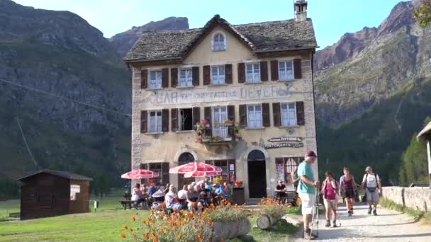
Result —
<instances>
[{"instance_id":1,"label":"small dark brown wooden shed on the grass at left","mask_svg":"<svg viewBox=\"0 0 431 242\"><path fill-rule=\"evenodd\" d=\"M21 181L21 219L90 212L90 181L84 175L41 170Z\"/></svg>"}]
</instances>

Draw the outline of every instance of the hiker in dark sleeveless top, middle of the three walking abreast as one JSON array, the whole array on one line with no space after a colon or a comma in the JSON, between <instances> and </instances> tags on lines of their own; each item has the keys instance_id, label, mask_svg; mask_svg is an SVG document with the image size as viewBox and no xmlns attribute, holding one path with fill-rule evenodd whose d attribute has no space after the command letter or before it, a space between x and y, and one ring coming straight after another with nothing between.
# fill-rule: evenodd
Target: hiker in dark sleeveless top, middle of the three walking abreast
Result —
<instances>
[{"instance_id":1,"label":"hiker in dark sleeveless top, middle of the three walking abreast","mask_svg":"<svg viewBox=\"0 0 431 242\"><path fill-rule=\"evenodd\" d=\"M353 215L354 197L356 197L358 186L353 175L350 174L350 168L345 166L345 168L343 168L343 173L345 174L340 178L339 193L346 202L347 214L350 217Z\"/></svg>"}]
</instances>

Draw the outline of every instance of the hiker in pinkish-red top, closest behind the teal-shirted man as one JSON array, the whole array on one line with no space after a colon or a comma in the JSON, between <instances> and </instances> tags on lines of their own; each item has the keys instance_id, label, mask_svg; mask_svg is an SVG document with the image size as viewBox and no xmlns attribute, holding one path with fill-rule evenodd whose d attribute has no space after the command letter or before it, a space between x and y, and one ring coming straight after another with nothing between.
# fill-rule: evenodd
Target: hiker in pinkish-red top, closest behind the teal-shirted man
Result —
<instances>
[{"instance_id":1,"label":"hiker in pinkish-red top, closest behind the teal-shirted man","mask_svg":"<svg viewBox=\"0 0 431 242\"><path fill-rule=\"evenodd\" d=\"M321 194L323 194L323 204L325 204L326 209L326 224L325 226L329 227L331 214L332 214L332 227L337 226L337 191L338 191L338 184L337 181L332 176L331 171L325 172L326 179L322 183L322 190Z\"/></svg>"}]
</instances>

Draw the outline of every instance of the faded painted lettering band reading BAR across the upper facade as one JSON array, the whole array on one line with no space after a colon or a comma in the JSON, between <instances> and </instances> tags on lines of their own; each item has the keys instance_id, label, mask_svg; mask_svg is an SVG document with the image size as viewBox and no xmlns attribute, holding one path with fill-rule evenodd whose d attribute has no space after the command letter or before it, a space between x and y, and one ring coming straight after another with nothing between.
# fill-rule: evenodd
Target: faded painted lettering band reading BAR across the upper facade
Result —
<instances>
[{"instance_id":1,"label":"faded painted lettering band reading BAR across the upper facade","mask_svg":"<svg viewBox=\"0 0 431 242\"><path fill-rule=\"evenodd\" d=\"M218 88L188 88L174 91L152 91L144 98L152 105L170 105L180 103L217 103L243 100L262 100L270 98L287 98L294 93L295 88L288 85L244 85L220 86Z\"/></svg>"}]
</instances>

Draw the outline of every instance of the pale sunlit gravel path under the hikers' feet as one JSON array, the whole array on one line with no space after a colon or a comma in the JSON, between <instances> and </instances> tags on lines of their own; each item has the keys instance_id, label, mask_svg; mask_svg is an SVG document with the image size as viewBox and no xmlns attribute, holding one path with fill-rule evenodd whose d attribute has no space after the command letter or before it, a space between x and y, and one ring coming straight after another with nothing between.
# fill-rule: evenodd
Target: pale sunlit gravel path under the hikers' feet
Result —
<instances>
[{"instance_id":1,"label":"pale sunlit gravel path under the hikers' feet","mask_svg":"<svg viewBox=\"0 0 431 242\"><path fill-rule=\"evenodd\" d=\"M341 226L338 228L325 227L325 214L321 212L317 241L431 242L431 226L415 223L413 217L382 207L377 208L378 216L368 215L367 209L368 205L356 205L354 215L347 217L347 209L340 207L338 211ZM304 240L297 238L294 241Z\"/></svg>"}]
</instances>

